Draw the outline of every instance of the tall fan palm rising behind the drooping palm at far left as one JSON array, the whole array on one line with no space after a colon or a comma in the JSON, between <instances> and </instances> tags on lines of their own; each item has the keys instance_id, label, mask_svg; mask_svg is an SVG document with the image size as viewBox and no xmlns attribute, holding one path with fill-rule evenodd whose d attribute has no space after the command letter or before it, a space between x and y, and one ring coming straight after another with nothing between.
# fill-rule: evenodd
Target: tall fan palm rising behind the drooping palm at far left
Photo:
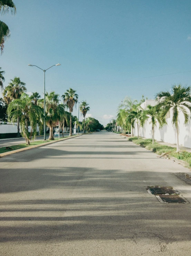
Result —
<instances>
[{"instance_id":1,"label":"tall fan palm rising behind the drooping palm at far left","mask_svg":"<svg viewBox=\"0 0 191 256\"><path fill-rule=\"evenodd\" d=\"M23 92L27 91L26 83L21 82L20 77L11 79L11 82L3 90L3 99L9 104L14 99L19 99ZM20 137L19 116L17 118L17 137Z\"/></svg>"}]
</instances>

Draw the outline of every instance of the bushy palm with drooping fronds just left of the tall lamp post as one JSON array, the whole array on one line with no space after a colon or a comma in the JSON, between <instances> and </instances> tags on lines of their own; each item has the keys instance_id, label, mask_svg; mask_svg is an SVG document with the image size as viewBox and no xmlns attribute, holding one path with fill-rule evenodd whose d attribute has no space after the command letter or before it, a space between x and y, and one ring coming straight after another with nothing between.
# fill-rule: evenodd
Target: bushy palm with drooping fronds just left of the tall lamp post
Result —
<instances>
[{"instance_id":1,"label":"bushy palm with drooping fronds just left of the tall lamp post","mask_svg":"<svg viewBox=\"0 0 191 256\"><path fill-rule=\"evenodd\" d=\"M19 99L14 99L7 108L8 120L15 122L20 117L21 134L27 145L30 145L28 122L33 131L33 139L37 134L37 120L43 118L43 109L32 104L28 94L23 93Z\"/></svg>"}]
</instances>

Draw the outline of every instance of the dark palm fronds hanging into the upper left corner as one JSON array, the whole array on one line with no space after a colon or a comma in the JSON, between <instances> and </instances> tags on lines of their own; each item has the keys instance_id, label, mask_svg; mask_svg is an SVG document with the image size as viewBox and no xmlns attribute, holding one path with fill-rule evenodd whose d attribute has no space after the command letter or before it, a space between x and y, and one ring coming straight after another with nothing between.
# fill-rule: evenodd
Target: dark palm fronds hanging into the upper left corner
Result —
<instances>
[{"instance_id":1,"label":"dark palm fronds hanging into the upper left corner","mask_svg":"<svg viewBox=\"0 0 191 256\"><path fill-rule=\"evenodd\" d=\"M16 6L12 0L0 0L0 12L1 14L8 13L16 14ZM4 42L10 37L10 30L7 24L0 20L0 48L1 54L3 53Z\"/></svg>"}]
</instances>

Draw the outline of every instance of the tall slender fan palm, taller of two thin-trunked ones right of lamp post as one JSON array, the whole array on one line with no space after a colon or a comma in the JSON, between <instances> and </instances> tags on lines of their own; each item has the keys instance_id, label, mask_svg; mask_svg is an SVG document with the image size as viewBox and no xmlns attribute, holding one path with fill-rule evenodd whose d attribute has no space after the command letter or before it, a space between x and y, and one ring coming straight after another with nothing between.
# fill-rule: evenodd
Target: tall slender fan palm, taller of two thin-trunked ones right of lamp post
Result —
<instances>
[{"instance_id":1,"label":"tall slender fan palm, taller of two thin-trunked ones right of lamp post","mask_svg":"<svg viewBox=\"0 0 191 256\"><path fill-rule=\"evenodd\" d=\"M73 112L74 106L76 107L77 105L78 95L76 94L75 90L69 88L69 90L66 90L65 94L62 95L62 98L70 111L70 136L72 136L71 113Z\"/></svg>"}]
</instances>

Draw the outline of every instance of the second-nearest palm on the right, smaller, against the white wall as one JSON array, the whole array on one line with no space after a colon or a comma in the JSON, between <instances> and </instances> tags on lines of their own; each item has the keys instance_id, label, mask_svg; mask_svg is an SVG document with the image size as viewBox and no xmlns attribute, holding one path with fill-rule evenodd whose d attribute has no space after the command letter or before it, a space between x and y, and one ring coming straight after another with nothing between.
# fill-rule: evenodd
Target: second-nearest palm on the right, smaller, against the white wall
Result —
<instances>
[{"instance_id":1,"label":"second-nearest palm on the right, smaller, against the white wall","mask_svg":"<svg viewBox=\"0 0 191 256\"><path fill-rule=\"evenodd\" d=\"M156 126L156 122L159 122L159 128L166 123L165 119L161 116L161 110L157 110L156 106L148 105L146 109L143 111L142 118L141 118L141 126L143 127L145 121L151 118L150 124L152 124L152 138L154 144L154 127Z\"/></svg>"}]
</instances>

